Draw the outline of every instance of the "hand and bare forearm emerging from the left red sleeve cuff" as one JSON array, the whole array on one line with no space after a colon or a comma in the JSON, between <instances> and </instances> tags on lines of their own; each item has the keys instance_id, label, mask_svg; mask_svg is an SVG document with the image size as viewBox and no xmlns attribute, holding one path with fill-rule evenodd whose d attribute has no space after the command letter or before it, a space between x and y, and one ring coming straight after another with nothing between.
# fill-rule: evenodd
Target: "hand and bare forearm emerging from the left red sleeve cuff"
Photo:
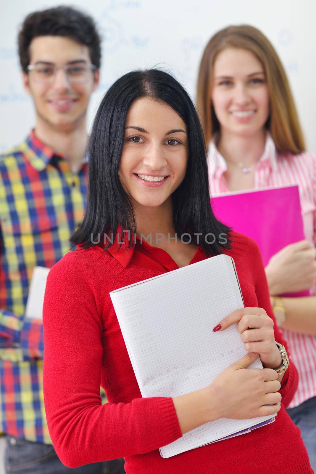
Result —
<instances>
[{"instance_id":1,"label":"hand and bare forearm emerging from the left red sleeve cuff","mask_svg":"<svg viewBox=\"0 0 316 474\"><path fill-rule=\"evenodd\" d=\"M210 385L173 399L182 434L219 418L249 419L280 410L281 383L273 369L247 369L258 354L248 352Z\"/></svg>"}]
</instances>

